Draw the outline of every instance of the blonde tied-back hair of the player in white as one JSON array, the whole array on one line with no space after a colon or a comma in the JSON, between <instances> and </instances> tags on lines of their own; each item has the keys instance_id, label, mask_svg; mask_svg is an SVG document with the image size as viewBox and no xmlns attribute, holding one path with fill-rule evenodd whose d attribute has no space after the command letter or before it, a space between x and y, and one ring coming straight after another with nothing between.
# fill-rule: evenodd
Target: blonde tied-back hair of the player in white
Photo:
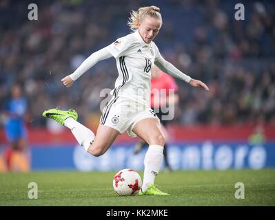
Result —
<instances>
[{"instance_id":1,"label":"blonde tied-back hair of the player in white","mask_svg":"<svg viewBox=\"0 0 275 220\"><path fill-rule=\"evenodd\" d=\"M132 31L136 31L139 28L139 22L143 21L146 16L159 19L161 23L163 22L160 9L154 5L139 8L137 11L132 10L130 14L131 17L129 18L128 26Z\"/></svg>"}]
</instances>

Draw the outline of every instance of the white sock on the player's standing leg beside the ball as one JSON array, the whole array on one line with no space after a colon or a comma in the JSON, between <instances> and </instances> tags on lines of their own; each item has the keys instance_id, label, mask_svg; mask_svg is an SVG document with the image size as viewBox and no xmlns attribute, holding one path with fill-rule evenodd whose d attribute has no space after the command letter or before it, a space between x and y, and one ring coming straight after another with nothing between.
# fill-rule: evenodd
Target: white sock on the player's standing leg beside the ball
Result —
<instances>
[{"instance_id":1,"label":"white sock on the player's standing leg beside the ball","mask_svg":"<svg viewBox=\"0 0 275 220\"><path fill-rule=\"evenodd\" d=\"M144 175L141 190L145 192L147 186L154 184L154 178L159 173L163 161L163 146L150 145L144 158Z\"/></svg>"}]
</instances>

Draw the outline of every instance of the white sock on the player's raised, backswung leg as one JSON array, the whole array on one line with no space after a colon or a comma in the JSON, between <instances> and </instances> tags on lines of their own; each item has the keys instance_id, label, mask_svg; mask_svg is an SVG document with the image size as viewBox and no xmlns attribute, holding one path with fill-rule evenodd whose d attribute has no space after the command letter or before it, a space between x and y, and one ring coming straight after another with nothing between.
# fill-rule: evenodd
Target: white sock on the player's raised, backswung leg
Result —
<instances>
[{"instance_id":1,"label":"white sock on the player's raised, backswung leg","mask_svg":"<svg viewBox=\"0 0 275 220\"><path fill-rule=\"evenodd\" d=\"M89 146L94 142L94 133L72 117L67 118L64 121L64 125L72 131L77 142L79 142L79 144L85 148L85 151L88 152Z\"/></svg>"}]
</instances>

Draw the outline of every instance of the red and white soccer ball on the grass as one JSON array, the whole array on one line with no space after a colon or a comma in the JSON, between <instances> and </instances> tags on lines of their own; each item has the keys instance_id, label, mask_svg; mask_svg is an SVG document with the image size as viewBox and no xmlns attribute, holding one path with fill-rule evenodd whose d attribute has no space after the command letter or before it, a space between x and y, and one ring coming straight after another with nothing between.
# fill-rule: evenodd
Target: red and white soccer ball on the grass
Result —
<instances>
[{"instance_id":1,"label":"red and white soccer ball on the grass","mask_svg":"<svg viewBox=\"0 0 275 220\"><path fill-rule=\"evenodd\" d=\"M141 176L128 168L120 170L114 175L112 185L118 195L136 195L141 190Z\"/></svg>"}]
</instances>

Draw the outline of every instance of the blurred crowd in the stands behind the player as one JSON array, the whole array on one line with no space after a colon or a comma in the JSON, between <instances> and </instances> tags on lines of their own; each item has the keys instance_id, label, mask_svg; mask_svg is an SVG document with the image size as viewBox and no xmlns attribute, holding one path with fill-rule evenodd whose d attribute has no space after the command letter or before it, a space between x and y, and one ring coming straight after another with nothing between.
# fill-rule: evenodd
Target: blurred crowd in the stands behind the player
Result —
<instances>
[{"instance_id":1,"label":"blurred crowd in the stands behind the player","mask_svg":"<svg viewBox=\"0 0 275 220\"><path fill-rule=\"evenodd\" d=\"M74 108L94 126L101 115L101 90L114 88L113 58L88 70L73 87L61 84L92 52L130 33L131 10L161 8L163 27L155 43L167 60L210 92L179 84L175 123L275 124L275 3L245 1L236 21L234 1L0 1L0 100L20 83L28 100L28 126L45 126L45 109Z\"/></svg>"}]
</instances>

